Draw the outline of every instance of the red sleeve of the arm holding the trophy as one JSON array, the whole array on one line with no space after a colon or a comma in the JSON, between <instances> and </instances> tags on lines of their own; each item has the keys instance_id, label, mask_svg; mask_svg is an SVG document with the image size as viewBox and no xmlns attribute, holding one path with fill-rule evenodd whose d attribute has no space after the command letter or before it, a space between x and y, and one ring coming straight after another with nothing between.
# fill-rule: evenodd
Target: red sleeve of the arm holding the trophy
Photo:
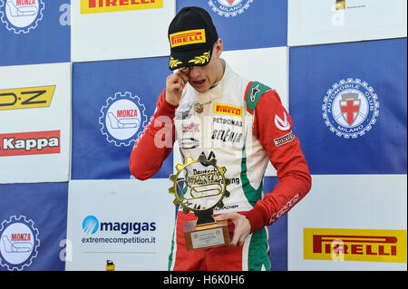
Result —
<instances>
[{"instance_id":1,"label":"red sleeve of the arm holding the trophy","mask_svg":"<svg viewBox=\"0 0 408 289\"><path fill-rule=\"evenodd\" d=\"M277 92L265 92L255 108L254 134L267 150L279 181L272 193L266 194L253 209L243 213L248 217L252 232L272 225L311 188L312 178L292 128L292 120Z\"/></svg>"}]
</instances>

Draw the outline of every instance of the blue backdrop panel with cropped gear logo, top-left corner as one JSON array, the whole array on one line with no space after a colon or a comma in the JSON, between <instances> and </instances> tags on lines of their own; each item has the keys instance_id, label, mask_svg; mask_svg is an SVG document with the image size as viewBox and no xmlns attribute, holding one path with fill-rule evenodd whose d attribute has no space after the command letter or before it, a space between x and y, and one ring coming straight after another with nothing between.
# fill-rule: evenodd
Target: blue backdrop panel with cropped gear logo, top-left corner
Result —
<instances>
[{"instance_id":1,"label":"blue backdrop panel with cropped gear logo, top-left corner","mask_svg":"<svg viewBox=\"0 0 408 289\"><path fill-rule=\"evenodd\" d=\"M70 62L71 1L34 3L17 6L15 0L0 0L0 65Z\"/></svg>"}]
</instances>

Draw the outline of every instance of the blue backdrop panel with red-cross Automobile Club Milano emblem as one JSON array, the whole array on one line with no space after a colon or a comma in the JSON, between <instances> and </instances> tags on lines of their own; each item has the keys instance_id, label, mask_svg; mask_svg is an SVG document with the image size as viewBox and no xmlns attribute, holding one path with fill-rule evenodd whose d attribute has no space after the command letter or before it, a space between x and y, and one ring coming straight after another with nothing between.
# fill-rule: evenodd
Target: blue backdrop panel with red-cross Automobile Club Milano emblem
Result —
<instances>
[{"instance_id":1,"label":"blue backdrop panel with red-cross Automobile Club Milano emblem","mask_svg":"<svg viewBox=\"0 0 408 289\"><path fill-rule=\"evenodd\" d=\"M290 48L290 113L312 174L406 174L406 53L406 38Z\"/></svg>"}]
</instances>

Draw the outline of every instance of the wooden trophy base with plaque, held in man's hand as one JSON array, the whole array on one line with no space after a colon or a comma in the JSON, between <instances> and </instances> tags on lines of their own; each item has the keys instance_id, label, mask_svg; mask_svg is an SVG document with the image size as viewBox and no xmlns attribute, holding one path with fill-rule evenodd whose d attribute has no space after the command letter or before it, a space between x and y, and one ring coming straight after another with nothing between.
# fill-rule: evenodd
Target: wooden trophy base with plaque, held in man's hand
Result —
<instances>
[{"instance_id":1,"label":"wooden trophy base with plaque, held in man's hand","mask_svg":"<svg viewBox=\"0 0 408 289\"><path fill-rule=\"evenodd\" d=\"M231 243L227 220L199 226L196 225L196 222L197 220L184 223L187 251L228 246Z\"/></svg>"}]
</instances>

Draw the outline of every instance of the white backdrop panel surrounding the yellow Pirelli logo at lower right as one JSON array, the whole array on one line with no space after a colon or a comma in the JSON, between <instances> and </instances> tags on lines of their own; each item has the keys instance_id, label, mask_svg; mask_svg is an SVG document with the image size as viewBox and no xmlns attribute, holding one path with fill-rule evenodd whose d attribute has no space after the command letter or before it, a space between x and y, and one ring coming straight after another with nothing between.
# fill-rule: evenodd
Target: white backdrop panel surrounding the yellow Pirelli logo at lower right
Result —
<instances>
[{"instance_id":1,"label":"white backdrop panel surrounding the yellow Pirelli logo at lower right","mask_svg":"<svg viewBox=\"0 0 408 289\"><path fill-rule=\"evenodd\" d=\"M288 270L406 270L406 263L305 260L303 229L406 230L406 175L312 176L288 213Z\"/></svg>"}]
</instances>

